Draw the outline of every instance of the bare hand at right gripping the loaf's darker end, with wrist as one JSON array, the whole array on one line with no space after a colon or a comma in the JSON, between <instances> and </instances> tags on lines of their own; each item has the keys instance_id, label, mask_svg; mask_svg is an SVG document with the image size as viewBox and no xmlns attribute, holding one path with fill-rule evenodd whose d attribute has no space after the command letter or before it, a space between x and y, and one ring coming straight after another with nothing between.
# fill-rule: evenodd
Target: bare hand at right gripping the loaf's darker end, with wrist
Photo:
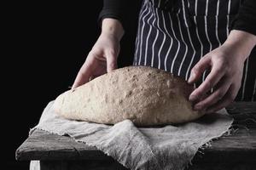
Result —
<instances>
[{"instance_id":1,"label":"bare hand at right gripping the loaf's darker end, with wrist","mask_svg":"<svg viewBox=\"0 0 256 170\"><path fill-rule=\"evenodd\" d=\"M194 109L207 112L218 111L229 105L241 86L243 65L256 44L256 37L245 31L231 31L222 46L206 54L193 67L189 83L194 83L206 69L211 69L205 82L194 90L189 100ZM207 93L213 88L213 93Z\"/></svg>"}]
</instances>

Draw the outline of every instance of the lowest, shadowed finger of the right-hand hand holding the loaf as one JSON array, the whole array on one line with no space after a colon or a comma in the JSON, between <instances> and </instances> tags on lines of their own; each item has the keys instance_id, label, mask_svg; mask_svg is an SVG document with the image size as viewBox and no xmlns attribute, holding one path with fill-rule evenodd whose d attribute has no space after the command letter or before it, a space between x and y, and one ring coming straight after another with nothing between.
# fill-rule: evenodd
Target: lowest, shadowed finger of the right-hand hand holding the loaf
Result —
<instances>
[{"instance_id":1,"label":"lowest, shadowed finger of the right-hand hand holding the loaf","mask_svg":"<svg viewBox=\"0 0 256 170\"><path fill-rule=\"evenodd\" d=\"M207 109L207 113L213 113L219 111L230 105L230 103L236 98L236 94L238 92L239 86L235 84L231 84L229 90L224 95L224 98L219 100L216 104L212 105L210 108Z\"/></svg>"}]
</instances>

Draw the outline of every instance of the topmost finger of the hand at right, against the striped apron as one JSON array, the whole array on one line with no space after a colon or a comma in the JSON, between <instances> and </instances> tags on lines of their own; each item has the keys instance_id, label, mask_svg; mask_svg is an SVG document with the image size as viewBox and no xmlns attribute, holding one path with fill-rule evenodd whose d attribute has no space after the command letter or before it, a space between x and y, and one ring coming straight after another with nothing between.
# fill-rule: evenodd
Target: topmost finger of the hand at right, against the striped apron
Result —
<instances>
[{"instance_id":1,"label":"topmost finger of the hand at right, against the striped apron","mask_svg":"<svg viewBox=\"0 0 256 170\"><path fill-rule=\"evenodd\" d=\"M210 57L203 57L201 58L198 63L192 68L189 76L189 83L196 82L204 71L206 71L207 67L211 65L211 59Z\"/></svg>"}]
</instances>

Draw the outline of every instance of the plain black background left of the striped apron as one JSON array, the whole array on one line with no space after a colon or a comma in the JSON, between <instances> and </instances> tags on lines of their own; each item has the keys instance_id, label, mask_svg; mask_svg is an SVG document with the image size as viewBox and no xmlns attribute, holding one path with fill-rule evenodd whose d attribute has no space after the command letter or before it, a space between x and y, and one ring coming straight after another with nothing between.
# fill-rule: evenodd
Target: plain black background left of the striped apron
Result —
<instances>
[{"instance_id":1,"label":"plain black background left of the striped apron","mask_svg":"<svg viewBox=\"0 0 256 170\"><path fill-rule=\"evenodd\" d=\"M97 17L102 1L22 2L3 8L3 169L28 169L28 161L15 161L15 150L37 125L48 102L72 86L100 34ZM131 9L134 22L121 42L119 67L132 63L137 13L138 6Z\"/></svg>"}]
</instances>

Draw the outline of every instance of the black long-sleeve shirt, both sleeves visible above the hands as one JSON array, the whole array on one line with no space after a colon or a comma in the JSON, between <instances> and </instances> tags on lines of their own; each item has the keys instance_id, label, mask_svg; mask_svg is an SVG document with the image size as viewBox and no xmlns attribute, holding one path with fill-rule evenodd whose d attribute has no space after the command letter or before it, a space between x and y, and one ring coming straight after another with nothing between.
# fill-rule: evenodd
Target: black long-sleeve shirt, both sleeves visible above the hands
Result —
<instances>
[{"instance_id":1,"label":"black long-sleeve shirt, both sleeves visible above the hands","mask_svg":"<svg viewBox=\"0 0 256 170\"><path fill-rule=\"evenodd\" d=\"M113 18L119 20L124 28L129 25L132 5L139 0L104 0L99 20ZM234 20L231 21L230 30L247 31L256 35L256 1L244 0Z\"/></svg>"}]
</instances>

